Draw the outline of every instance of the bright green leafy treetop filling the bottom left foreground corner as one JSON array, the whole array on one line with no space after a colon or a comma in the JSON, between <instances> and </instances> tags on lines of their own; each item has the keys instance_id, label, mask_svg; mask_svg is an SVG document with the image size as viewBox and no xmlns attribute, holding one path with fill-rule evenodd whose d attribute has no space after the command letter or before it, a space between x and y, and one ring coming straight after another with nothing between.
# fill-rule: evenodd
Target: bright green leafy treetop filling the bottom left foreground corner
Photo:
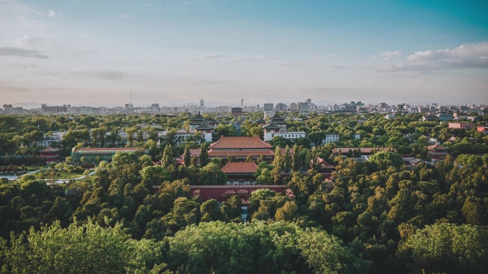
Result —
<instances>
[{"instance_id":1,"label":"bright green leafy treetop filling the bottom left foreground corner","mask_svg":"<svg viewBox=\"0 0 488 274\"><path fill-rule=\"evenodd\" d=\"M11 273L127 273L162 266L155 244L128 239L121 224L102 228L89 221L61 228L56 221L41 231L12 233L11 247L2 249L4 269Z\"/></svg>"}]
</instances>

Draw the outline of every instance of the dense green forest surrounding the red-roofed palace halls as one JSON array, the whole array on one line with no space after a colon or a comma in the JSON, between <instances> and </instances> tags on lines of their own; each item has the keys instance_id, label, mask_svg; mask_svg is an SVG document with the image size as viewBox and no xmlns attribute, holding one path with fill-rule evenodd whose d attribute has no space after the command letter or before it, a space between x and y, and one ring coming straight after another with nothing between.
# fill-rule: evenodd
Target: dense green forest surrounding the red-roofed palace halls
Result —
<instances>
[{"instance_id":1,"label":"dense green forest surrounding the red-roofed palace halls","mask_svg":"<svg viewBox=\"0 0 488 274\"><path fill-rule=\"evenodd\" d=\"M240 136L263 135L253 122L259 115L238 118ZM67 184L36 174L0 179L0 273L488 272L484 132L423 122L418 114L295 116L300 120L287 120L288 130L307 137L274 138L275 149L290 153L276 149L273 162L258 159L255 174L259 184L285 184L295 197L254 191L243 220L237 196L219 205L191 193L190 185L225 184L220 168L235 159L208 159L208 144L197 137L178 145L171 132L188 129L188 113L1 115L3 156L35 158L36 140L56 131L66 132L56 144L66 162L56 169L88 168L71 162L69 152L90 138L112 147L116 134L106 132L130 132L127 146L149 153L117 153L96 163L93 178ZM216 118L214 140L238 135L229 123L235 118ZM479 125L487 122L479 117ZM159 139L140 124L170 134ZM322 144L328 133L340 142ZM431 162L429 138L449 149L444 160ZM332 154L334 147L391 149L357 162ZM200 149L198 159L190 148ZM181 154L185 164L176 164ZM407 166L400 155L424 162ZM335 165L332 179L319 172L317 157Z\"/></svg>"}]
</instances>

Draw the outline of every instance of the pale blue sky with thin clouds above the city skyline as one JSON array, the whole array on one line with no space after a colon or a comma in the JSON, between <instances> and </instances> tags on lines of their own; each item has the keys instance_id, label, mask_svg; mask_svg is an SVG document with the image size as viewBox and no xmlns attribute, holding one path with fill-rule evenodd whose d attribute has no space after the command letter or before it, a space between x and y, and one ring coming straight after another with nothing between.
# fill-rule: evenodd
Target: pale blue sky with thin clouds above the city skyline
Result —
<instances>
[{"instance_id":1,"label":"pale blue sky with thin clouds above the city skyline","mask_svg":"<svg viewBox=\"0 0 488 274\"><path fill-rule=\"evenodd\" d=\"M488 1L0 0L0 105L488 104Z\"/></svg>"}]
</instances>

